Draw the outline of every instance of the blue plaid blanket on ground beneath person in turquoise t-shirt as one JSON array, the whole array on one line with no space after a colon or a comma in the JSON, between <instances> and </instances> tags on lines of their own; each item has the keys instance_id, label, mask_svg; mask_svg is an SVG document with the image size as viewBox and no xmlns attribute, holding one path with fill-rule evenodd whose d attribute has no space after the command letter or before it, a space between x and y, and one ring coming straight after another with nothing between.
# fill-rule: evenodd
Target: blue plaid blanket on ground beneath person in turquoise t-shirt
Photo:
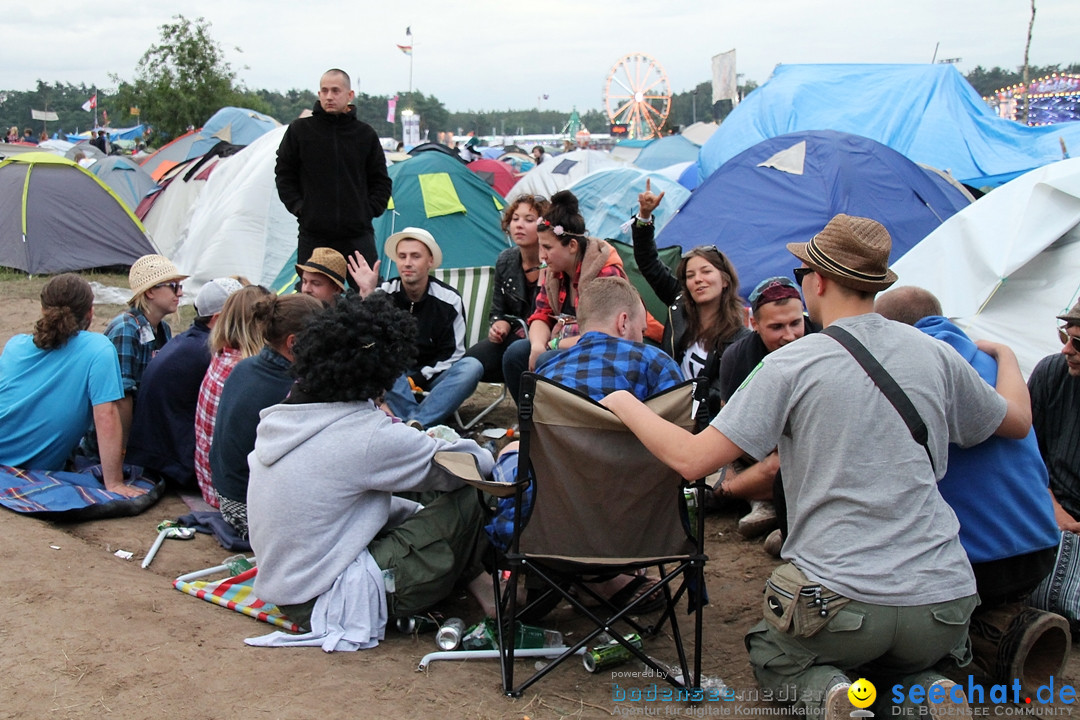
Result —
<instances>
[{"instance_id":1,"label":"blue plaid blanket on ground beneath person in turquoise t-shirt","mask_svg":"<svg viewBox=\"0 0 1080 720\"><path fill-rule=\"evenodd\" d=\"M141 467L124 465L124 479L134 479L136 487L147 490L138 498L124 498L105 489L100 465L91 465L79 473L0 465L0 505L50 520L138 515L165 491L164 481L154 484L143 477L141 472Z\"/></svg>"}]
</instances>

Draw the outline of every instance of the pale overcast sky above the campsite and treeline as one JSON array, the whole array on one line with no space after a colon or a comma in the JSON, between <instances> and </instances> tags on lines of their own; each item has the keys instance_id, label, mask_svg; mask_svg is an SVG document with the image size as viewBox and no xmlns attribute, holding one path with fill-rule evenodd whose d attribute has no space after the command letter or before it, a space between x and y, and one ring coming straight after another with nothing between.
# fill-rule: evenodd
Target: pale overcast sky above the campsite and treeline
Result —
<instances>
[{"instance_id":1,"label":"pale overcast sky above the campsite and treeline","mask_svg":"<svg viewBox=\"0 0 1080 720\"><path fill-rule=\"evenodd\" d=\"M1032 65L1080 62L1080 1L1036 0ZM205 17L249 89L315 90L339 66L359 92L413 87L447 109L600 108L605 79L625 54L647 53L673 92L710 78L710 58L735 49L744 79L764 83L778 63L929 63L960 57L1017 67L1028 0L67 0L21 3L0 18L0 90L37 80L112 87L133 79L158 27L183 12ZM239 52L238 51L243 51Z\"/></svg>"}]
</instances>

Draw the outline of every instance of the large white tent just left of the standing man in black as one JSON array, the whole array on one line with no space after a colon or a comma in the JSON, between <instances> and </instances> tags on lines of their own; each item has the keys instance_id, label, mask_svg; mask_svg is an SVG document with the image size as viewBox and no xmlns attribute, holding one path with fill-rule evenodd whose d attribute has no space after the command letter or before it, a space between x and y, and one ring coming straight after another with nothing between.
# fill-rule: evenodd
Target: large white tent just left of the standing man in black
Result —
<instances>
[{"instance_id":1,"label":"large white tent just left of the standing man in black","mask_svg":"<svg viewBox=\"0 0 1080 720\"><path fill-rule=\"evenodd\" d=\"M274 163L285 127L262 135L211 175L173 261L192 290L241 274L269 286L296 250L296 218L278 199ZM194 297L194 293L190 293Z\"/></svg>"}]
</instances>

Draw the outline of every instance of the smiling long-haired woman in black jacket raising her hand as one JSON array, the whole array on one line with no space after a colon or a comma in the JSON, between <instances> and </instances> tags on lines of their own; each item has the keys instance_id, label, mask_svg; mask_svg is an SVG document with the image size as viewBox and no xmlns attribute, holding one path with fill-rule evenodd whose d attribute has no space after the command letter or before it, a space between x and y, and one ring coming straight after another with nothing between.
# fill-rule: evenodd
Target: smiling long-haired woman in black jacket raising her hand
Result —
<instances>
[{"instance_id":1,"label":"smiling long-haired woman in black jacket raising her hand","mask_svg":"<svg viewBox=\"0 0 1080 720\"><path fill-rule=\"evenodd\" d=\"M731 260L713 245L684 253L674 274L660 261L652 212L663 199L664 193L653 193L646 180L632 223L634 259L653 293L667 305L661 347L679 364L684 378L705 376L712 385L719 377L724 351L751 331L739 297L739 275ZM717 411L718 406L707 410L710 416Z\"/></svg>"}]
</instances>

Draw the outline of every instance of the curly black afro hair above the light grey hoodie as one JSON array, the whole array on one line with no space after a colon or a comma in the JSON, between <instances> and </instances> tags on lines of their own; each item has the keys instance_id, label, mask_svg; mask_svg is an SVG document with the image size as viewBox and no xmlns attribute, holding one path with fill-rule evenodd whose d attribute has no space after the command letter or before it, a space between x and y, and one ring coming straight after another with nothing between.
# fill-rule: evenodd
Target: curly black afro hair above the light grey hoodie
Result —
<instances>
[{"instance_id":1,"label":"curly black afro hair above the light grey hoodie","mask_svg":"<svg viewBox=\"0 0 1080 720\"><path fill-rule=\"evenodd\" d=\"M313 402L376 398L416 363L416 320L382 293L349 296L300 332L293 357L297 384Z\"/></svg>"}]
</instances>

